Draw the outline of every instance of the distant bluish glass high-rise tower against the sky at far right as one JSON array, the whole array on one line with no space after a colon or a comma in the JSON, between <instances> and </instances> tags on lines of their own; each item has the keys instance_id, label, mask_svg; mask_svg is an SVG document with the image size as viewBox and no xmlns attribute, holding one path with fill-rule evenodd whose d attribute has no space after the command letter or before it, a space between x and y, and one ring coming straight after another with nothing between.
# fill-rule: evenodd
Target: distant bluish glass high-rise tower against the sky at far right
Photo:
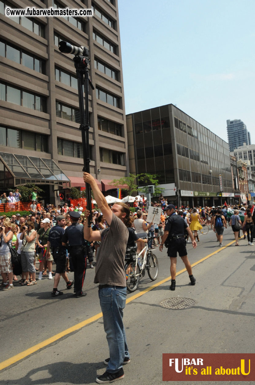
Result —
<instances>
[{"instance_id":1,"label":"distant bluish glass high-rise tower against the sky at far right","mask_svg":"<svg viewBox=\"0 0 255 385\"><path fill-rule=\"evenodd\" d=\"M230 152L238 146L243 146L243 143L251 144L250 132L240 119L227 120L227 133Z\"/></svg>"}]
</instances>

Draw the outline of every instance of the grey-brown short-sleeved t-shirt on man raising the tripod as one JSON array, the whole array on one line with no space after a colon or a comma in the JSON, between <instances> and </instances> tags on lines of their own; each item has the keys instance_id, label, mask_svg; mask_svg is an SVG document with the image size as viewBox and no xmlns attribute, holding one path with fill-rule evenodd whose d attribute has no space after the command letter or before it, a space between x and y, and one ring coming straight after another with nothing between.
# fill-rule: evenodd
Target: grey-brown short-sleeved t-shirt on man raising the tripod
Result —
<instances>
[{"instance_id":1,"label":"grey-brown short-sleeved t-shirt on man raising the tripod","mask_svg":"<svg viewBox=\"0 0 255 385\"><path fill-rule=\"evenodd\" d=\"M124 259L128 230L115 214L109 228L100 230L101 244L96 256L94 283L101 285L126 286Z\"/></svg>"}]
</instances>

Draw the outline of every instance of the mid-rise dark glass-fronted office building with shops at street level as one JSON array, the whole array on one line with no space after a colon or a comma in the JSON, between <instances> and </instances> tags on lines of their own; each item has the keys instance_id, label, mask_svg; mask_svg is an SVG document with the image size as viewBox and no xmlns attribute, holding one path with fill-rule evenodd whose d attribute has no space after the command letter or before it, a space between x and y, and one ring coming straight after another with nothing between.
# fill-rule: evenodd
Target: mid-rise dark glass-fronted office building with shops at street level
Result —
<instances>
[{"instance_id":1,"label":"mid-rise dark glass-fronted office building with shops at street level","mask_svg":"<svg viewBox=\"0 0 255 385\"><path fill-rule=\"evenodd\" d=\"M228 143L219 136L172 104L126 115L126 122L130 172L157 174L169 203L233 201Z\"/></svg>"}]
</instances>

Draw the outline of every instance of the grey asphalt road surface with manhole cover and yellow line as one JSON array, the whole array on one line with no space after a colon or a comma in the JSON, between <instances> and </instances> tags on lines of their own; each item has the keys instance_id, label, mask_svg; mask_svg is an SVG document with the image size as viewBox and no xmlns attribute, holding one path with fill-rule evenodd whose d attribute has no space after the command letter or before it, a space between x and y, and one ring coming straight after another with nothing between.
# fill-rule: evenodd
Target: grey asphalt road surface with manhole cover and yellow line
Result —
<instances>
[{"instance_id":1,"label":"grey asphalt road surface with manhole cover and yellow line","mask_svg":"<svg viewBox=\"0 0 255 385\"><path fill-rule=\"evenodd\" d=\"M162 253L156 249L157 280L151 282L146 273L138 290L127 296L124 325L131 363L124 366L121 383L162 383L162 353L254 352L255 246L241 239L235 247L232 241L228 227L223 239L223 246L229 244L226 248L218 247L212 231L200 236L195 250L187 244L190 262L198 262L193 268L197 282L190 286L184 271L176 278L176 291L169 291L166 249ZM206 256L209 258L201 261ZM177 271L183 268L178 257ZM72 279L73 273L69 276ZM63 280L59 288L64 295L51 298L53 280L47 277L35 286L15 284L13 290L0 293L0 385L95 383L105 370L108 345L93 278L94 269L87 269L84 290L88 295L83 298L66 290ZM146 292L152 285L156 287ZM185 310L161 306L162 300L171 298L189 298L194 306ZM51 338L60 332L63 334ZM41 347L33 348L42 342Z\"/></svg>"}]
</instances>

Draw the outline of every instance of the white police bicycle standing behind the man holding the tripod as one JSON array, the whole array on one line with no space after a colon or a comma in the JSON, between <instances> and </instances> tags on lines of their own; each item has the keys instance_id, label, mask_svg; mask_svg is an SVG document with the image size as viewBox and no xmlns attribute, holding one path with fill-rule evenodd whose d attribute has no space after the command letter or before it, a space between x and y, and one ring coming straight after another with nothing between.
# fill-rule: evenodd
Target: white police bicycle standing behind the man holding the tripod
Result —
<instances>
[{"instance_id":1,"label":"white police bicycle standing behind the man holding the tripod","mask_svg":"<svg viewBox=\"0 0 255 385\"><path fill-rule=\"evenodd\" d=\"M141 261L139 256L141 256L144 251L144 258ZM159 274L159 264L156 255L149 250L148 244L144 246L139 254L136 253L136 246L127 248L125 260L127 261L125 264L125 273L127 290L129 293L133 293L137 289L140 278L144 277L146 270L152 281L157 279Z\"/></svg>"}]
</instances>

